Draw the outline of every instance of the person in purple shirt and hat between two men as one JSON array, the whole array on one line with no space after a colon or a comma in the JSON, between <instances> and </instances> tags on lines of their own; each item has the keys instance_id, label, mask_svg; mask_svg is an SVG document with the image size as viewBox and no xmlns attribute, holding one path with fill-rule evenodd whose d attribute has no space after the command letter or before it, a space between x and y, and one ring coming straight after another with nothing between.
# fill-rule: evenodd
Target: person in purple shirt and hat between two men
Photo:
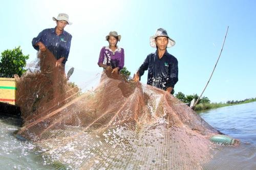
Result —
<instances>
[{"instance_id":1,"label":"person in purple shirt and hat between two men","mask_svg":"<svg viewBox=\"0 0 256 170\"><path fill-rule=\"evenodd\" d=\"M112 74L119 73L124 66L123 48L117 46L117 42L120 39L121 35L118 35L116 31L111 31L106 36L109 46L103 46L99 54L98 65L107 71L113 69Z\"/></svg>"}]
</instances>

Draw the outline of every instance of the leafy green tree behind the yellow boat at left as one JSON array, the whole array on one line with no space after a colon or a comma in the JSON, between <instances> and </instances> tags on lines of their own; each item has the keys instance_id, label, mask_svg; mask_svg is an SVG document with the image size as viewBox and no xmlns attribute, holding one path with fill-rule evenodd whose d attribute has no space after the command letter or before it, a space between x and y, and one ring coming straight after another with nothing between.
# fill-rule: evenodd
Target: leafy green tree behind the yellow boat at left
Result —
<instances>
[{"instance_id":1,"label":"leafy green tree behind the yellow boat at left","mask_svg":"<svg viewBox=\"0 0 256 170\"><path fill-rule=\"evenodd\" d=\"M29 59L29 55L23 55L20 46L18 46L13 50L5 50L1 53L0 58L1 77L12 78L14 74L20 77L26 71L26 60Z\"/></svg>"}]
</instances>

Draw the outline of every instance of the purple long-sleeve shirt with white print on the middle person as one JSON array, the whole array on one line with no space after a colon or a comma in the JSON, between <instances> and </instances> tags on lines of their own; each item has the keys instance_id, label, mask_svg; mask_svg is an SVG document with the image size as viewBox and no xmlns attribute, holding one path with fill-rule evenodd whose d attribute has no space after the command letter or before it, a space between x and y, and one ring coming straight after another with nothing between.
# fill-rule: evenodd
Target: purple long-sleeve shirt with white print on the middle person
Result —
<instances>
[{"instance_id":1,"label":"purple long-sleeve shirt with white print on the middle person","mask_svg":"<svg viewBox=\"0 0 256 170\"><path fill-rule=\"evenodd\" d=\"M124 66L124 50L123 48L117 47L117 49L112 52L109 46L103 46L99 54L99 63L109 65L112 68L119 67L119 70Z\"/></svg>"}]
</instances>

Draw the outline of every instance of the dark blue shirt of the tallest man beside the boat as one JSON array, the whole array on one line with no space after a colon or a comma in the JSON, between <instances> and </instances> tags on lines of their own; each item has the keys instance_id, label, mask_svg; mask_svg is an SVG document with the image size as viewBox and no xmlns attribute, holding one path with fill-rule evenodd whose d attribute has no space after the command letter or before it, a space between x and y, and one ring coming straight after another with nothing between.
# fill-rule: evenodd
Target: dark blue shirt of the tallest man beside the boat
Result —
<instances>
[{"instance_id":1,"label":"dark blue shirt of the tallest man beside the boat","mask_svg":"<svg viewBox=\"0 0 256 170\"><path fill-rule=\"evenodd\" d=\"M35 46L35 44L39 41L42 42L57 60L65 57L65 60L62 62L65 64L69 57L71 39L72 35L67 31L63 31L62 34L57 35L55 28L51 28L42 30L37 37L33 38L32 45L38 51L39 46Z\"/></svg>"}]
</instances>

